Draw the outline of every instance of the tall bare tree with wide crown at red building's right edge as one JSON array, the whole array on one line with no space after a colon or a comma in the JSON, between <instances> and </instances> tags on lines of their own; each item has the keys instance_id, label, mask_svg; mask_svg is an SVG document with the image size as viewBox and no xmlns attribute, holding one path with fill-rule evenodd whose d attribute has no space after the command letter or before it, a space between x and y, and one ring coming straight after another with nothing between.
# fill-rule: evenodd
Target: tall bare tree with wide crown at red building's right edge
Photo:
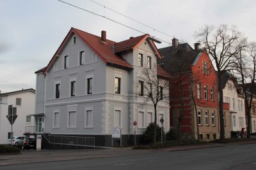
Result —
<instances>
[{"instance_id":1,"label":"tall bare tree with wide crown at red building's right edge","mask_svg":"<svg viewBox=\"0 0 256 170\"><path fill-rule=\"evenodd\" d=\"M223 119L223 89L220 80L224 71L233 69L233 59L241 51L241 42L243 42L245 38L236 27L228 25L220 25L219 27L205 25L202 29L195 32L195 37L204 43L205 50L212 60L215 69L218 71L218 91L220 93L220 140L223 141L225 139L225 127Z\"/></svg>"}]
</instances>

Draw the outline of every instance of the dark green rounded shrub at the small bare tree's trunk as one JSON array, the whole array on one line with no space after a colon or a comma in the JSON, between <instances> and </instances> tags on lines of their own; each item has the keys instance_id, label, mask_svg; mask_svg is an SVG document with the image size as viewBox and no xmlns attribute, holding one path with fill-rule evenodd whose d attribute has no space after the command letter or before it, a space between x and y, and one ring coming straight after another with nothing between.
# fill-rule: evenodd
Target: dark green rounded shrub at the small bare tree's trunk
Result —
<instances>
[{"instance_id":1,"label":"dark green rounded shrub at the small bare tree's trunk","mask_svg":"<svg viewBox=\"0 0 256 170\"><path fill-rule=\"evenodd\" d=\"M148 124L147 130L143 132L143 143L148 145L154 142L154 126L155 124L152 122ZM163 131L163 139L164 139L164 131ZM161 142L161 127L157 125L156 127L156 141Z\"/></svg>"}]
</instances>

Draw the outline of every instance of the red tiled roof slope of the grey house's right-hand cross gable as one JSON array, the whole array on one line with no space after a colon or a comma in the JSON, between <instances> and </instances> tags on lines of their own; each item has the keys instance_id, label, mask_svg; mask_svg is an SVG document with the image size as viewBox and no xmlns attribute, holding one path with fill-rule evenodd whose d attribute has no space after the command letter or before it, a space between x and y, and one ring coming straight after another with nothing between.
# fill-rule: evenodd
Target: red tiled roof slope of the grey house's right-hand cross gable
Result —
<instances>
[{"instance_id":1,"label":"red tiled roof slope of the grey house's right-hand cross gable","mask_svg":"<svg viewBox=\"0 0 256 170\"><path fill-rule=\"evenodd\" d=\"M144 34L142 36L138 37L132 37L130 39L127 39L125 41L121 41L119 43L115 43L115 52L122 52L124 50L130 50L134 48L136 45L140 44L141 41L145 41L145 39L148 38L148 34Z\"/></svg>"}]
</instances>

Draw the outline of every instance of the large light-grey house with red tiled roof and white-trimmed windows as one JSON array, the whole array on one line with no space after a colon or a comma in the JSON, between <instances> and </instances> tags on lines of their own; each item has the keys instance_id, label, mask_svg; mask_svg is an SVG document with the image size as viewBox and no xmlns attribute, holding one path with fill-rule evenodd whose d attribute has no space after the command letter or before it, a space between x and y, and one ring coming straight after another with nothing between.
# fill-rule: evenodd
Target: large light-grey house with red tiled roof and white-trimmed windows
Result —
<instances>
[{"instance_id":1,"label":"large light-grey house with red tiled roof and white-trimmed windows","mask_svg":"<svg viewBox=\"0 0 256 170\"><path fill-rule=\"evenodd\" d=\"M141 87L147 82L140 77L143 69L156 66L157 57L161 54L148 34L115 43L106 39L106 31L99 37L70 29L47 67L36 71L36 114L43 120L42 129L93 136L95 145L110 146L111 130L117 125L123 145L133 143L132 122L138 122L140 137L154 121L153 104L143 105L148 94ZM164 94L168 96L168 90ZM165 131L169 108L168 99L157 106L157 122L164 118Z\"/></svg>"}]
</instances>

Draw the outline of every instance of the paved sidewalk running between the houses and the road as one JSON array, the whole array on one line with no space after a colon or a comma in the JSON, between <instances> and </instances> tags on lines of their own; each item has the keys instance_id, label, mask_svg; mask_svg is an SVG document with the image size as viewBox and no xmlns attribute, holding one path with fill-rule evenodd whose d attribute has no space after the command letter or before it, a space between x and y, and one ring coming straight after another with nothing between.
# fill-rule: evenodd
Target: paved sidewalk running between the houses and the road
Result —
<instances>
[{"instance_id":1,"label":"paved sidewalk running between the houses and the road","mask_svg":"<svg viewBox=\"0 0 256 170\"><path fill-rule=\"evenodd\" d=\"M188 145L188 146L173 146L172 148L163 148L159 150L132 150L128 148L111 148L111 149L95 149L95 150L24 150L20 155L0 155L0 166L10 164L26 164L34 162L51 162L61 160L76 160L76 159L93 159L100 157L116 157L124 155L139 155L145 153L159 153L180 150L193 150L198 148L211 148L227 145L246 145L256 143L256 141L243 141L237 143L209 143L206 145Z\"/></svg>"}]
</instances>

